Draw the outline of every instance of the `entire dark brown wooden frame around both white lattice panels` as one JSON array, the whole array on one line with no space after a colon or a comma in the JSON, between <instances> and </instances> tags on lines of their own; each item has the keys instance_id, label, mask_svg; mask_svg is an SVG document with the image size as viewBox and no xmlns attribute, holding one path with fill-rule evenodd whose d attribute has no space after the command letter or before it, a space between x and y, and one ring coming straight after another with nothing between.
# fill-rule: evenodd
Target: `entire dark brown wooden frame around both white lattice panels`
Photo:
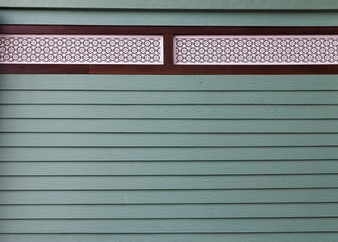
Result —
<instances>
[{"instance_id":1,"label":"entire dark brown wooden frame around both white lattice panels","mask_svg":"<svg viewBox=\"0 0 338 242\"><path fill-rule=\"evenodd\" d=\"M7 74L338 74L338 65L174 65L174 35L338 35L338 27L0 25L1 34L163 35L163 65L0 64Z\"/></svg>"}]
</instances>

